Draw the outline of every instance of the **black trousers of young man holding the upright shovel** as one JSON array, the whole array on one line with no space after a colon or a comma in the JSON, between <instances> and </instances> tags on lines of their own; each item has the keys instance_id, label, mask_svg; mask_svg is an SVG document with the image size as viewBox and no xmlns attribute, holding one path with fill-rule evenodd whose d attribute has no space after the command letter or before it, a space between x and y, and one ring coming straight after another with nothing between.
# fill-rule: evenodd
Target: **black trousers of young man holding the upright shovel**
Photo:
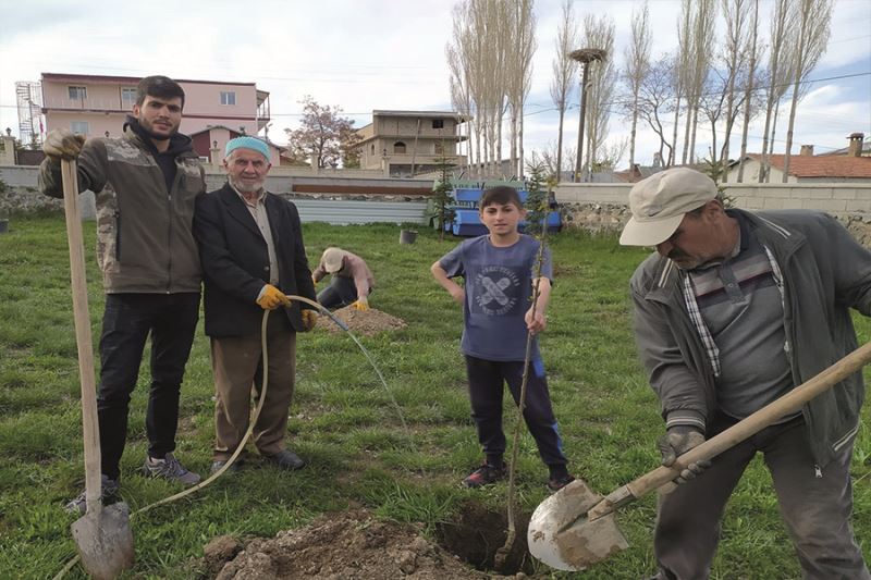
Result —
<instances>
[{"instance_id":1,"label":"black trousers of young man holding the upright shovel","mask_svg":"<svg viewBox=\"0 0 871 580\"><path fill-rule=\"evenodd\" d=\"M105 476L118 479L121 473L130 396L149 333L151 387L145 417L148 455L160 459L175 449L179 393L198 318L199 293L106 295L97 394Z\"/></svg>"}]
</instances>

